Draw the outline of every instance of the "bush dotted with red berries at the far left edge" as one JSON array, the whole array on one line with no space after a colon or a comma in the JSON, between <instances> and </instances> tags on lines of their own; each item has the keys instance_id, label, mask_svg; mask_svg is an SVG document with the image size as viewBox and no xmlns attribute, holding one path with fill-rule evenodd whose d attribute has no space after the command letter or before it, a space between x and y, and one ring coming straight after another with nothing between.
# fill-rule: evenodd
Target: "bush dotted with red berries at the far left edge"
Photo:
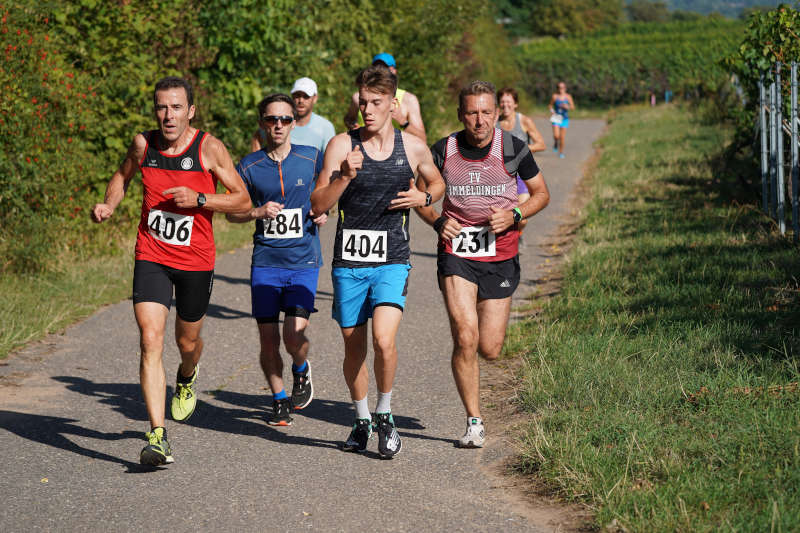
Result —
<instances>
[{"instance_id":1,"label":"bush dotted with red berries at the far left edge","mask_svg":"<svg viewBox=\"0 0 800 533\"><path fill-rule=\"evenodd\" d=\"M99 166L88 130L101 120L94 80L66 61L46 12L0 12L0 268L35 272L77 243Z\"/></svg>"}]
</instances>

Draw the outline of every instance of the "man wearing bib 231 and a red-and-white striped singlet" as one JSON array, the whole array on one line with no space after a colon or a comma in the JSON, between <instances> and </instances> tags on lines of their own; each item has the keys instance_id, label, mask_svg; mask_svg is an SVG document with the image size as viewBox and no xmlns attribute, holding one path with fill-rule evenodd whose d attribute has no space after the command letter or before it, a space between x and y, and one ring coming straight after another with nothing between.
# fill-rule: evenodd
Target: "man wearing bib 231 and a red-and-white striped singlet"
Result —
<instances>
[{"instance_id":1,"label":"man wearing bib 231 and a red-and-white striped singlet","mask_svg":"<svg viewBox=\"0 0 800 533\"><path fill-rule=\"evenodd\" d=\"M447 192L441 216L432 206L417 213L439 235L439 287L453 337L452 368L467 412L467 430L457 444L481 447L478 353L500 355L511 295L519 283L515 226L550 200L547 185L528 145L495 127L494 86L474 81L459 94L458 118L464 129L431 147ZM515 176L531 195L517 205Z\"/></svg>"}]
</instances>

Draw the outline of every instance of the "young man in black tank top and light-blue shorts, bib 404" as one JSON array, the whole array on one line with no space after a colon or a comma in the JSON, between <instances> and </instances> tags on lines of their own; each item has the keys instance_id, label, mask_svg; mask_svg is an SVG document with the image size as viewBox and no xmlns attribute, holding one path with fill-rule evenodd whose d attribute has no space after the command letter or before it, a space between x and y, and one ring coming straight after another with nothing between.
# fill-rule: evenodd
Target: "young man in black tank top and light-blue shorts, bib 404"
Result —
<instances>
[{"instance_id":1,"label":"young man in black tank top and light-blue shorts, bib 404","mask_svg":"<svg viewBox=\"0 0 800 533\"><path fill-rule=\"evenodd\" d=\"M356 409L344 449L364 452L372 436L365 364L367 321L372 317L378 387L374 424L378 452L391 458L401 448L391 397L396 336L411 268L409 209L438 200L444 182L425 143L392 127L397 77L385 66L373 65L358 75L356 85L365 125L331 140L311 205L315 213L324 213L339 202L331 272L333 317L342 330L342 370ZM415 181L428 192L420 191Z\"/></svg>"}]
</instances>

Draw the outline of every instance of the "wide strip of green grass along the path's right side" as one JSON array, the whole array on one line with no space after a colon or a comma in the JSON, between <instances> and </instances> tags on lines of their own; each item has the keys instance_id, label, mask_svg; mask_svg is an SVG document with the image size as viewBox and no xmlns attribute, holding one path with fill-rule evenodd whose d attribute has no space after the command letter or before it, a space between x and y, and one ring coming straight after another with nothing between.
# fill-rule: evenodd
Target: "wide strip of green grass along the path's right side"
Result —
<instances>
[{"instance_id":1,"label":"wide strip of green grass along the path's right side","mask_svg":"<svg viewBox=\"0 0 800 533\"><path fill-rule=\"evenodd\" d=\"M729 135L675 106L616 114L563 290L509 335L519 467L600 527L800 523L798 250L721 157Z\"/></svg>"}]
</instances>

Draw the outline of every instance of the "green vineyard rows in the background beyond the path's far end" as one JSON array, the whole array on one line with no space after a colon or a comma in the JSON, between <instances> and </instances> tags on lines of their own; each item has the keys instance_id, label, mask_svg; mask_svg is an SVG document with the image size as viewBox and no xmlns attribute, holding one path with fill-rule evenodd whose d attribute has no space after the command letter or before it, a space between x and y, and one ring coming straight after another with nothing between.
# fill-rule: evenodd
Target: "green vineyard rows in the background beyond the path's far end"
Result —
<instances>
[{"instance_id":1,"label":"green vineyard rows in the background beyond the path's far end","mask_svg":"<svg viewBox=\"0 0 800 533\"><path fill-rule=\"evenodd\" d=\"M670 23L636 23L584 38L545 38L518 50L522 86L548 101L557 81L576 101L641 101L650 91L703 97L725 83L720 58L735 50L744 24L718 17Z\"/></svg>"}]
</instances>

